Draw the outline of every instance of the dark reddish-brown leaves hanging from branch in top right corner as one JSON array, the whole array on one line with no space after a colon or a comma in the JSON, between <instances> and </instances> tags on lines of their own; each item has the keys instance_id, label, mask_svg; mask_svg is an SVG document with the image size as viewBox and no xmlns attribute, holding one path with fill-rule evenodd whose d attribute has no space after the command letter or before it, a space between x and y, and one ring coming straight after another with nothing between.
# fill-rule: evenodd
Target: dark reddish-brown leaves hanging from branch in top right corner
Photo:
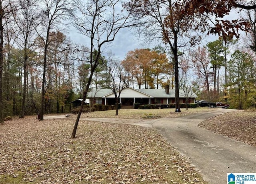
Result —
<instances>
[{"instance_id":1,"label":"dark reddish-brown leaves hanging from branch in top right corner","mask_svg":"<svg viewBox=\"0 0 256 184\"><path fill-rule=\"evenodd\" d=\"M184 1L182 1L184 2ZM202 14L208 17L209 24L208 34L218 34L223 39L232 39L234 36L239 38L239 30L249 31L250 24L244 20L224 20L234 8L253 8L240 4L240 0L188 0L182 12L184 14L194 15ZM181 2L177 2L179 6Z\"/></svg>"}]
</instances>

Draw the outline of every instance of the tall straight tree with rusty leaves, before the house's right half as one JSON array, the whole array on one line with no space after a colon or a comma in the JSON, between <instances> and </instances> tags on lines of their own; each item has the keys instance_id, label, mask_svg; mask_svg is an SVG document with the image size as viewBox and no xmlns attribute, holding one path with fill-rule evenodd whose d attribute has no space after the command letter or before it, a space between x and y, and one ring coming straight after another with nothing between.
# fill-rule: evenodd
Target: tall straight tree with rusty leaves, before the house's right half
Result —
<instances>
[{"instance_id":1,"label":"tall straight tree with rusty leaves, before the house's right half","mask_svg":"<svg viewBox=\"0 0 256 184\"><path fill-rule=\"evenodd\" d=\"M175 109L180 112L179 100L179 50L187 43L192 45L200 36L191 34L194 30L204 31L206 22L200 14L190 15L182 11L185 1L179 0L130 0L125 8L137 16L142 25L139 30L147 40L162 40L174 56Z\"/></svg>"}]
</instances>

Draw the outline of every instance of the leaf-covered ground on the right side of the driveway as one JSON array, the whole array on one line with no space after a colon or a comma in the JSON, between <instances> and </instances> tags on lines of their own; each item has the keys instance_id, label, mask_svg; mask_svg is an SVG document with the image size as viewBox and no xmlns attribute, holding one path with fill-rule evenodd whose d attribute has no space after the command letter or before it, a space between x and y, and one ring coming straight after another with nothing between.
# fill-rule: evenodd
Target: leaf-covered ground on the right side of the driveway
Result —
<instances>
[{"instance_id":1,"label":"leaf-covered ground on the right side of the driveway","mask_svg":"<svg viewBox=\"0 0 256 184\"><path fill-rule=\"evenodd\" d=\"M226 113L198 126L256 147L256 111Z\"/></svg>"}]
</instances>

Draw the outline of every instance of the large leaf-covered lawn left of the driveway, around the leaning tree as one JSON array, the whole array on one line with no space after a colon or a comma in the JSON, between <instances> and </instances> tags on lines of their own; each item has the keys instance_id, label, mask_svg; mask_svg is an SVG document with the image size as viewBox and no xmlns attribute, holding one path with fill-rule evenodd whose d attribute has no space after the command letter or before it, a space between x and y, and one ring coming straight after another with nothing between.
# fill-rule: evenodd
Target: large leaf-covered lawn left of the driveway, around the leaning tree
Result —
<instances>
[{"instance_id":1,"label":"large leaf-covered lawn left of the driveway, around the leaning tree","mask_svg":"<svg viewBox=\"0 0 256 184\"><path fill-rule=\"evenodd\" d=\"M134 125L14 119L0 125L0 183L189 184L202 176L156 130Z\"/></svg>"}]
</instances>

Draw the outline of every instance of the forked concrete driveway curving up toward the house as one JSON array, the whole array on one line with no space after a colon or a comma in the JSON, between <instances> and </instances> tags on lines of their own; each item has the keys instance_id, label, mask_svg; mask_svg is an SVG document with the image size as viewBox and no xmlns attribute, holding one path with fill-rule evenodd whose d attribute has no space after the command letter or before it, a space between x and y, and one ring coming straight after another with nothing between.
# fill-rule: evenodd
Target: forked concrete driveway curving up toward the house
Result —
<instances>
[{"instance_id":1,"label":"forked concrete driveway curving up toward the house","mask_svg":"<svg viewBox=\"0 0 256 184\"><path fill-rule=\"evenodd\" d=\"M216 108L214 112L152 120L116 118L83 120L154 127L180 154L188 157L206 181L224 184L227 182L229 172L256 172L256 147L212 133L197 125L206 119L232 111L235 110Z\"/></svg>"}]
</instances>

